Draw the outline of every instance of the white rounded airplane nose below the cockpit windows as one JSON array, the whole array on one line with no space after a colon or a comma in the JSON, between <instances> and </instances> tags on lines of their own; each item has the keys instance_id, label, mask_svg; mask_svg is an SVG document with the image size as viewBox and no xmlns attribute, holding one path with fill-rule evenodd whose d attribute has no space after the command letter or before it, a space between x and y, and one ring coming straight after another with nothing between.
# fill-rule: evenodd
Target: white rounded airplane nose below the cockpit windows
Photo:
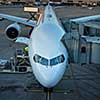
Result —
<instances>
[{"instance_id":1,"label":"white rounded airplane nose below the cockpit windows","mask_svg":"<svg viewBox=\"0 0 100 100\"><path fill-rule=\"evenodd\" d=\"M41 85L46 88L54 87L62 78L65 72L65 65L56 66L32 66L34 75Z\"/></svg>"}]
</instances>

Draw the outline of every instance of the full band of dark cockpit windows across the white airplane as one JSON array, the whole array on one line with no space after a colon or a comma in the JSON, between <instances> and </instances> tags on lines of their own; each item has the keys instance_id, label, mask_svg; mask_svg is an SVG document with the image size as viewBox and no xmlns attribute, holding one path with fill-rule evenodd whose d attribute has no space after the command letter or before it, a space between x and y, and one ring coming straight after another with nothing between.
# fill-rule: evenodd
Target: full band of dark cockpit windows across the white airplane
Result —
<instances>
[{"instance_id":1,"label":"full band of dark cockpit windows across the white airplane","mask_svg":"<svg viewBox=\"0 0 100 100\"><path fill-rule=\"evenodd\" d=\"M45 66L54 66L54 65L63 63L64 60L65 60L65 57L62 54L62 55L59 55L59 56L52 58L52 59L46 59L46 58L44 58L40 55L35 54L34 57L33 57L33 60L36 63L42 64L42 65L45 65Z\"/></svg>"}]
</instances>

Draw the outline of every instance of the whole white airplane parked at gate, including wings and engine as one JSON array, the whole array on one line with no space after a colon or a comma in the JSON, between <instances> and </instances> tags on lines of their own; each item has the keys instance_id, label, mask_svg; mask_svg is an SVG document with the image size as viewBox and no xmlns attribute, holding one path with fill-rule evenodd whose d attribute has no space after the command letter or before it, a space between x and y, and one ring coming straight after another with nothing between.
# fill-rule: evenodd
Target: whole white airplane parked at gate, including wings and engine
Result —
<instances>
[{"instance_id":1,"label":"whole white airplane parked at gate, including wings and engine","mask_svg":"<svg viewBox=\"0 0 100 100\"><path fill-rule=\"evenodd\" d=\"M59 23L52 6L48 4L38 22L6 14L0 18L14 21L6 30L8 39L28 45L28 54L33 74L38 82L46 88L54 87L63 77L68 66L68 50L61 41L66 34ZM83 23L100 18L94 15L71 19L71 22ZM19 37L20 24L33 28L30 38Z\"/></svg>"}]
</instances>

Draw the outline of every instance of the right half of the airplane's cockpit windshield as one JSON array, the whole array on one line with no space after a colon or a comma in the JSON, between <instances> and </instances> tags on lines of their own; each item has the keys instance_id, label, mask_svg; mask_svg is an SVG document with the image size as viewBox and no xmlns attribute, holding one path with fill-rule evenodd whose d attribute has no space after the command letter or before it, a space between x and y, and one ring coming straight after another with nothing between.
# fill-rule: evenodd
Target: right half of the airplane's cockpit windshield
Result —
<instances>
[{"instance_id":1,"label":"right half of the airplane's cockpit windshield","mask_svg":"<svg viewBox=\"0 0 100 100\"><path fill-rule=\"evenodd\" d=\"M59 63L63 63L65 60L63 55L57 56L50 60L50 66L57 65Z\"/></svg>"}]
</instances>

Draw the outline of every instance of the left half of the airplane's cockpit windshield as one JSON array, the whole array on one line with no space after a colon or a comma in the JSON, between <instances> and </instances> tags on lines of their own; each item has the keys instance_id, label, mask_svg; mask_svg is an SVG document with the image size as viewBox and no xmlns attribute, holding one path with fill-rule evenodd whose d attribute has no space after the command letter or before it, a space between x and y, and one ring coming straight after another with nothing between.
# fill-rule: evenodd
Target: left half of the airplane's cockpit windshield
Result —
<instances>
[{"instance_id":1,"label":"left half of the airplane's cockpit windshield","mask_svg":"<svg viewBox=\"0 0 100 100\"><path fill-rule=\"evenodd\" d=\"M48 65L48 60L46 58L44 58L44 57L41 57L41 56L37 55L37 54L35 54L33 59L34 59L34 61L36 63L42 64L42 65L46 65L46 66Z\"/></svg>"}]
</instances>

